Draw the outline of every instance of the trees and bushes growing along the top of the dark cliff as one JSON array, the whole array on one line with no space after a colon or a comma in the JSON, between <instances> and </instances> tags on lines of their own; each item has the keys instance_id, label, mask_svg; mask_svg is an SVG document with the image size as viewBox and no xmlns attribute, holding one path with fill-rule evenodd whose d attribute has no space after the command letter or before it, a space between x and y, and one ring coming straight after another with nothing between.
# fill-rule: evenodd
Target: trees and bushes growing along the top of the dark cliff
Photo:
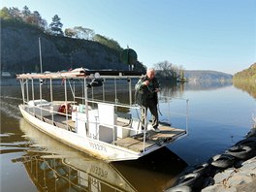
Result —
<instances>
[{"instance_id":1,"label":"trees and bushes growing along the top of the dark cliff","mask_svg":"<svg viewBox=\"0 0 256 192\"><path fill-rule=\"evenodd\" d=\"M105 37L100 34L95 34L93 29L89 29L83 26L75 26L73 28L62 29L63 23L58 15L52 16L52 21L48 24L48 21L43 18L38 11L31 12L27 6L20 11L17 8L2 8L0 10L1 19L13 20L16 23L22 22L32 26L35 26L52 36L69 37L74 39L90 40L98 42L109 48L113 48L116 51L121 51L118 42Z\"/></svg>"}]
</instances>

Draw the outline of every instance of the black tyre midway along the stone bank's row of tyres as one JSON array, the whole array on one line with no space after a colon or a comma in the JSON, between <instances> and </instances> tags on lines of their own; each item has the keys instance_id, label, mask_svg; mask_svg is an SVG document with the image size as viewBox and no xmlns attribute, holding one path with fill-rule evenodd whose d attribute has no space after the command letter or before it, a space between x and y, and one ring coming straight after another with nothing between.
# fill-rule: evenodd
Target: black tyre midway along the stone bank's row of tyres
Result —
<instances>
[{"instance_id":1,"label":"black tyre midway along the stone bank's row of tyres","mask_svg":"<svg viewBox=\"0 0 256 192\"><path fill-rule=\"evenodd\" d=\"M229 154L217 154L212 157L211 165L217 168L229 168L235 163L235 157Z\"/></svg>"}]
</instances>

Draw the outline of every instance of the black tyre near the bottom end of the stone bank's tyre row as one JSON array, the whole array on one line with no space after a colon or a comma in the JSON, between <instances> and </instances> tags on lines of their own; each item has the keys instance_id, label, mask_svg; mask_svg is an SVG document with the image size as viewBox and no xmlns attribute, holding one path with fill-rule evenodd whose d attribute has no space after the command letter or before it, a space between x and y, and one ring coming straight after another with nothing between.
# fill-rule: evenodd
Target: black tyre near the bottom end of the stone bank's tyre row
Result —
<instances>
[{"instance_id":1,"label":"black tyre near the bottom end of the stone bank's tyre row","mask_svg":"<svg viewBox=\"0 0 256 192\"><path fill-rule=\"evenodd\" d=\"M177 178L176 186L189 186L191 188L197 188L201 186L203 182L203 177L198 173L192 173L185 176L180 176Z\"/></svg>"}]
</instances>

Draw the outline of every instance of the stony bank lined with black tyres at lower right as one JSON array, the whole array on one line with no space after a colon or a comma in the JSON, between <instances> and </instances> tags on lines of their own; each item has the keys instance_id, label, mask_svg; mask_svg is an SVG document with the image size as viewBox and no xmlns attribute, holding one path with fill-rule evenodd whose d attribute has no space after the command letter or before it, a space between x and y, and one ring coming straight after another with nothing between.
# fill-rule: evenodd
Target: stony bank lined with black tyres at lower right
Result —
<instances>
[{"instance_id":1,"label":"stony bank lined with black tyres at lower right","mask_svg":"<svg viewBox=\"0 0 256 192\"><path fill-rule=\"evenodd\" d=\"M256 119L253 119L256 123ZM185 170L166 192L256 191L256 126L244 140Z\"/></svg>"}]
</instances>

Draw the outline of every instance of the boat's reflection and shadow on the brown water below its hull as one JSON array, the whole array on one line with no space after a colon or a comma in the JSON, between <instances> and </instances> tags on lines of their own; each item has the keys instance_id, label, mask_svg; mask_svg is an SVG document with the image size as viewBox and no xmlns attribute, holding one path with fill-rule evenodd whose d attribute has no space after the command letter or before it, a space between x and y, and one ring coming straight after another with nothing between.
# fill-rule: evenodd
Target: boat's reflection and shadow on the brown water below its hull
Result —
<instances>
[{"instance_id":1,"label":"boat's reflection and shadow on the brown water below its hull","mask_svg":"<svg viewBox=\"0 0 256 192\"><path fill-rule=\"evenodd\" d=\"M51 139L23 118L19 123L32 145L13 162L24 164L39 191L162 191L187 166L166 147L136 161L107 163Z\"/></svg>"}]
</instances>

